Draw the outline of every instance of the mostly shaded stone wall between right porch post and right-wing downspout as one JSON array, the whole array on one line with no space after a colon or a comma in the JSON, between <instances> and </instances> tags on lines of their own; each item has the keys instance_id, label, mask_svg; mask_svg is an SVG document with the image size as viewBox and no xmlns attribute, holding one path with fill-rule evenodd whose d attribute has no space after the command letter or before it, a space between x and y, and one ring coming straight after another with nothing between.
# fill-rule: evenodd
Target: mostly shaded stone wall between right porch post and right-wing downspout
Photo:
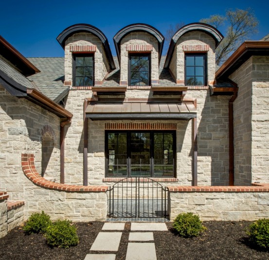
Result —
<instances>
[{"instance_id":1,"label":"mostly shaded stone wall between right porch post and right-wing downspout","mask_svg":"<svg viewBox=\"0 0 269 260\"><path fill-rule=\"evenodd\" d=\"M198 184L229 185L230 96L207 92L197 129Z\"/></svg>"}]
</instances>

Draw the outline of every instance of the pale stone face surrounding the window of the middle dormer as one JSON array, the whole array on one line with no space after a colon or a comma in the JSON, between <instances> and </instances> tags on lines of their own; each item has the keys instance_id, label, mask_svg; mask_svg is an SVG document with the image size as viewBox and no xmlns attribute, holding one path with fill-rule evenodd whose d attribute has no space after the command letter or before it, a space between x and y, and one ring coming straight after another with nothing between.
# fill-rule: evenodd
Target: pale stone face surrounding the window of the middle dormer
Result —
<instances>
[{"instance_id":1,"label":"pale stone face surrounding the window of the middle dormer","mask_svg":"<svg viewBox=\"0 0 269 260\"><path fill-rule=\"evenodd\" d=\"M143 32L135 32L126 35L121 40L121 82L128 81L128 49L129 45L152 45L151 53L151 81L159 80L159 49L157 39ZM135 51L133 51L135 53ZM124 84L123 84L124 85Z\"/></svg>"}]
</instances>

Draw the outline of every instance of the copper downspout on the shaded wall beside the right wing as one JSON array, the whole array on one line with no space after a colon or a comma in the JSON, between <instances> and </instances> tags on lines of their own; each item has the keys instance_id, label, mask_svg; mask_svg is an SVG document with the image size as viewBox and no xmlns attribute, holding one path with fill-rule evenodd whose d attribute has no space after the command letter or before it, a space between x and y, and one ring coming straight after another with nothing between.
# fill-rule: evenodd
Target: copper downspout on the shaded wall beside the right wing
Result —
<instances>
[{"instance_id":1,"label":"copper downspout on the shaded wall beside the right wing","mask_svg":"<svg viewBox=\"0 0 269 260\"><path fill-rule=\"evenodd\" d=\"M237 90L229 100L229 186L234 185L233 102L236 98Z\"/></svg>"}]
</instances>

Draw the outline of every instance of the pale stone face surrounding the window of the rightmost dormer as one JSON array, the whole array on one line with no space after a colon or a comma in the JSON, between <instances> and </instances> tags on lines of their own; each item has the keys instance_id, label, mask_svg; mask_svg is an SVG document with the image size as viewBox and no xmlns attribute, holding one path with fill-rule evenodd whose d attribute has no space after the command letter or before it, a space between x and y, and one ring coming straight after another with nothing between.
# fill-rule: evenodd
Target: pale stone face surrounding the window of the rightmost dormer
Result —
<instances>
[{"instance_id":1,"label":"pale stone face surrounding the window of the rightmost dormer","mask_svg":"<svg viewBox=\"0 0 269 260\"><path fill-rule=\"evenodd\" d=\"M205 46L204 48L195 48L196 46ZM186 48L189 47L189 48ZM192 48L193 47L193 48ZM184 48L184 49L183 49ZM189 32L182 35L175 47L169 69L177 83L184 85L185 81L185 52L207 53L207 81L213 83L215 80L215 41L214 39L203 32Z\"/></svg>"}]
</instances>

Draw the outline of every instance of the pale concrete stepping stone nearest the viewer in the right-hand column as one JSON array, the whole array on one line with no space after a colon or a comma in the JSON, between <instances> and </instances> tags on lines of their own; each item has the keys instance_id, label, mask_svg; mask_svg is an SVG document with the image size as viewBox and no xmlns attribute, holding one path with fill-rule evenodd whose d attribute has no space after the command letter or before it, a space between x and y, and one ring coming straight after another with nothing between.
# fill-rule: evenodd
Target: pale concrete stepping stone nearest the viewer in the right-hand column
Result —
<instances>
[{"instance_id":1,"label":"pale concrete stepping stone nearest the viewer in the right-hand column","mask_svg":"<svg viewBox=\"0 0 269 260\"><path fill-rule=\"evenodd\" d=\"M128 243L126 260L157 260L154 243Z\"/></svg>"}]
</instances>

